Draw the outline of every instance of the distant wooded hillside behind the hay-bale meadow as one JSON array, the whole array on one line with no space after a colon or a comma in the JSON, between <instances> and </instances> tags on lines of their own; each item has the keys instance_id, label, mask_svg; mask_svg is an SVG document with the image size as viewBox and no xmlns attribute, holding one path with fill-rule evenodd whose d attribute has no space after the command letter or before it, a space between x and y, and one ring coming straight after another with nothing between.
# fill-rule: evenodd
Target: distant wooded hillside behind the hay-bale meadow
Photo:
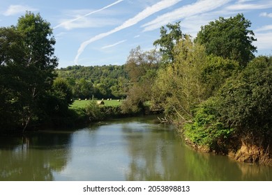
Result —
<instances>
[{"instance_id":1,"label":"distant wooded hillside behind the hay-bale meadow","mask_svg":"<svg viewBox=\"0 0 272 195\"><path fill-rule=\"evenodd\" d=\"M56 73L68 81L73 98L126 98L129 79L124 65L73 65Z\"/></svg>"}]
</instances>

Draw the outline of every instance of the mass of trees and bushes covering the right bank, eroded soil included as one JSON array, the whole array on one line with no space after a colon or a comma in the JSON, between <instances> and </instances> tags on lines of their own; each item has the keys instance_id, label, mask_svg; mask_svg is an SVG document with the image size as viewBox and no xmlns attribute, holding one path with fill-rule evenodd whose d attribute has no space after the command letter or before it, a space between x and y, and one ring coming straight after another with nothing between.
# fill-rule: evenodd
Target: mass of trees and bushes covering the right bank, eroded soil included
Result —
<instances>
[{"instance_id":1,"label":"mass of trees and bushes covering the right bank, eroded soil included","mask_svg":"<svg viewBox=\"0 0 272 195\"><path fill-rule=\"evenodd\" d=\"M202 26L195 40L174 33L179 23L168 26L169 39L163 34L160 42L180 38L158 72L152 100L192 144L271 164L272 57L254 56L250 24L241 14L220 17Z\"/></svg>"}]
</instances>

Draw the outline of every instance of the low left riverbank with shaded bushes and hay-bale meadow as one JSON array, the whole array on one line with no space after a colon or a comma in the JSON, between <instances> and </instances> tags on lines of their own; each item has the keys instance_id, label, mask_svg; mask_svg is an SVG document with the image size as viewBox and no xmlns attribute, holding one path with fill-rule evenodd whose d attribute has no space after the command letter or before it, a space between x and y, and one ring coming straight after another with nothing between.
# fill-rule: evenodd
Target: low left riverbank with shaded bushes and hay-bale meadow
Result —
<instances>
[{"instance_id":1,"label":"low left riverbank with shaded bushes and hay-bale meadow","mask_svg":"<svg viewBox=\"0 0 272 195\"><path fill-rule=\"evenodd\" d=\"M77 127L114 118L158 114L158 111L151 111L149 105L144 105L137 112L125 113L121 108L123 101L125 100L75 100L65 114L51 116L43 121L33 120L25 131L33 132L50 128ZM6 128L0 131L0 134L5 136L22 133L24 133L22 127Z\"/></svg>"}]
</instances>

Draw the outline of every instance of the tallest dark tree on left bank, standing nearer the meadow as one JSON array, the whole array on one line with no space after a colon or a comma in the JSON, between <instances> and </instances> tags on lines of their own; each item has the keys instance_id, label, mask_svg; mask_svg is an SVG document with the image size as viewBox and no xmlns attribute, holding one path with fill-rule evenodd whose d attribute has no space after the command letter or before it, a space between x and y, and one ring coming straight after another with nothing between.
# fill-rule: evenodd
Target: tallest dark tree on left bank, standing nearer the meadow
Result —
<instances>
[{"instance_id":1,"label":"tallest dark tree on left bank, standing nearer the meadow","mask_svg":"<svg viewBox=\"0 0 272 195\"><path fill-rule=\"evenodd\" d=\"M27 12L20 17L16 29L24 38L24 63L22 69L26 92L23 96L24 129L35 117L43 115L43 99L54 80L54 68L58 65L54 56L55 40L52 37L50 23L39 14Z\"/></svg>"}]
</instances>

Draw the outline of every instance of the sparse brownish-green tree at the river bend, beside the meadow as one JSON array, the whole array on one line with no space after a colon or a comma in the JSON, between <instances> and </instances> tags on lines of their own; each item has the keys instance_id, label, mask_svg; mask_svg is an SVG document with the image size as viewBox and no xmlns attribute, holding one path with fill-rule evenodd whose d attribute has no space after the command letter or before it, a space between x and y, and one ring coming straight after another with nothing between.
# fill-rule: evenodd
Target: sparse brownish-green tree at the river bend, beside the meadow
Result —
<instances>
[{"instance_id":1,"label":"sparse brownish-green tree at the river bend, beside the meadow","mask_svg":"<svg viewBox=\"0 0 272 195\"><path fill-rule=\"evenodd\" d=\"M160 67L160 54L156 50L142 52L140 47L132 49L125 69L130 76L127 100L122 104L125 113L144 109L144 102L151 100L151 86Z\"/></svg>"}]
</instances>

